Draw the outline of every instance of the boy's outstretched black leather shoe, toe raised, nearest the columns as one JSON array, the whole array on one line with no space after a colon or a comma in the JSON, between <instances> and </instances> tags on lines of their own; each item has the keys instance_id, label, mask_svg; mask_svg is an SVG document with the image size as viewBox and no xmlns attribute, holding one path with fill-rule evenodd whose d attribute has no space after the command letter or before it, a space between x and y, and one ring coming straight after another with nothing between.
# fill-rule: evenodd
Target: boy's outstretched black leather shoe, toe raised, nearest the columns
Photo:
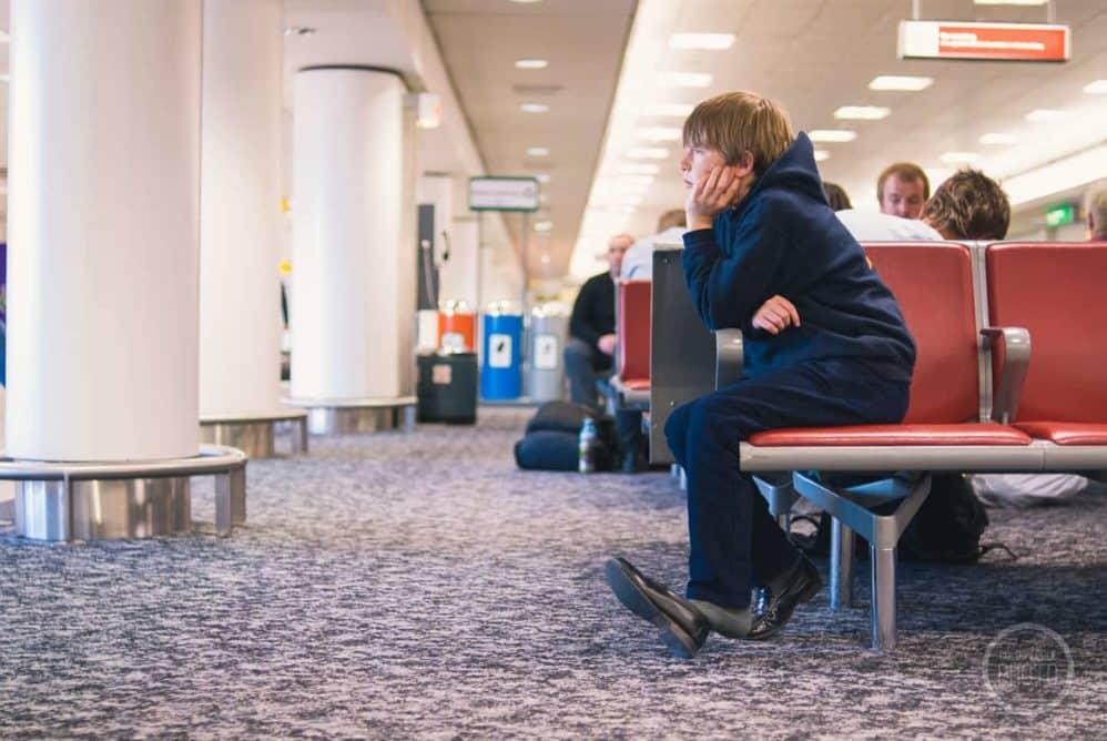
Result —
<instances>
[{"instance_id":1,"label":"boy's outstretched black leather shoe, toe raised, nearest the columns","mask_svg":"<svg viewBox=\"0 0 1107 741\"><path fill-rule=\"evenodd\" d=\"M661 629L661 640L673 656L691 659L699 653L711 627L687 599L650 579L624 558L609 560L603 572L623 607Z\"/></svg>"}]
</instances>

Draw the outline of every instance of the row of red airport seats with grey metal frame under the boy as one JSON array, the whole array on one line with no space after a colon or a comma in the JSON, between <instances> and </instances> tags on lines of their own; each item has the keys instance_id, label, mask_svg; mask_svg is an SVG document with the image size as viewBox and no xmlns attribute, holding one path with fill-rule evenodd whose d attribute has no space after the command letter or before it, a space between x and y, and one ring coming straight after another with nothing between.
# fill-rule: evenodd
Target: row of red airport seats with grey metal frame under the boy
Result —
<instances>
[{"instance_id":1,"label":"row of red airport seats with grey metal frame under the boy","mask_svg":"<svg viewBox=\"0 0 1107 741\"><path fill-rule=\"evenodd\" d=\"M884 650L896 641L896 544L931 474L1107 468L1107 244L863 246L917 343L905 419L769 430L737 454L781 519L798 497L833 516L832 606L849 603L853 534L869 542L872 642ZM620 286L612 387L617 404L649 409L653 463L672 461L672 409L741 378L741 332L704 328L680 257L661 247L652 282ZM835 486L830 471L877 480Z\"/></svg>"}]
</instances>

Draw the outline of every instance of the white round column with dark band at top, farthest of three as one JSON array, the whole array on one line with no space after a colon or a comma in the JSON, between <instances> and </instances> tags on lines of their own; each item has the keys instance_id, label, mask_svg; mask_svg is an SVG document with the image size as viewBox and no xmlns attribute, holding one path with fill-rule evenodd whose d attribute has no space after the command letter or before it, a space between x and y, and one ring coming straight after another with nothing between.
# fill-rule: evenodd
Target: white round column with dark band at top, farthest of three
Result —
<instances>
[{"instance_id":1,"label":"white round column with dark band at top, farthest of three","mask_svg":"<svg viewBox=\"0 0 1107 741\"><path fill-rule=\"evenodd\" d=\"M409 393L415 215L400 79L356 68L296 74L292 396Z\"/></svg>"}]
</instances>

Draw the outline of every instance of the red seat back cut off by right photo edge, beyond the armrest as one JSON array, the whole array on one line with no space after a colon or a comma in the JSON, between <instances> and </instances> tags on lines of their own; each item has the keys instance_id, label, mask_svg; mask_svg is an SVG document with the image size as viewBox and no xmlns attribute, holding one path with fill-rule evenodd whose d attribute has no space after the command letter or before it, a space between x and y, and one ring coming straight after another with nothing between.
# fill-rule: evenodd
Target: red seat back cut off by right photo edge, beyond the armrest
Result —
<instances>
[{"instance_id":1,"label":"red seat back cut off by right photo edge, beyond the armrest","mask_svg":"<svg viewBox=\"0 0 1107 741\"><path fill-rule=\"evenodd\" d=\"M988 317L1026 327L1017 420L1107 422L1107 244L989 245Z\"/></svg>"}]
</instances>

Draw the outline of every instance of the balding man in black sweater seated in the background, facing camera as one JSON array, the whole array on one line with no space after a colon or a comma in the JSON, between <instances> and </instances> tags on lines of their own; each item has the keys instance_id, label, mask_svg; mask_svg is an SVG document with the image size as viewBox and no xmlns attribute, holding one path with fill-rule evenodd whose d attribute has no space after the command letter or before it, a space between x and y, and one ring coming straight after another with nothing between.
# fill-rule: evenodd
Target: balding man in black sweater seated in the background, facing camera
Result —
<instances>
[{"instance_id":1,"label":"balding man in black sweater seated in the background, facing camera","mask_svg":"<svg viewBox=\"0 0 1107 741\"><path fill-rule=\"evenodd\" d=\"M629 234L608 242L608 270L585 282L569 317L569 342L565 346L565 370L569 376L569 398L601 413L596 380L610 370L615 354L615 280L622 255L634 242Z\"/></svg>"}]
</instances>

